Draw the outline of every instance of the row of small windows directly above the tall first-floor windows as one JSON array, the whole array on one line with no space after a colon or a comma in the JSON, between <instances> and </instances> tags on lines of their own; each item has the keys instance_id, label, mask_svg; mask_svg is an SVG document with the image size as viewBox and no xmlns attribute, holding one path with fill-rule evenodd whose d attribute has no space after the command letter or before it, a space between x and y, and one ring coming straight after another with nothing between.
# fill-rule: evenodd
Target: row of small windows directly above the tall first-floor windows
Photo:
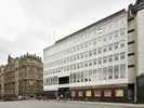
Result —
<instances>
[{"instance_id":1,"label":"row of small windows directly above the tall first-floor windows","mask_svg":"<svg viewBox=\"0 0 144 108\"><path fill-rule=\"evenodd\" d=\"M62 68L52 69L52 70L45 71L44 75L52 75L52 73L69 71L69 70L75 70L75 69L81 69L81 68L96 66L96 65L103 65L106 63L122 60L125 58L126 58L126 52L116 53L114 55L107 55L104 57L94 58L91 60L74 64L70 66L65 66Z\"/></svg>"}]
</instances>

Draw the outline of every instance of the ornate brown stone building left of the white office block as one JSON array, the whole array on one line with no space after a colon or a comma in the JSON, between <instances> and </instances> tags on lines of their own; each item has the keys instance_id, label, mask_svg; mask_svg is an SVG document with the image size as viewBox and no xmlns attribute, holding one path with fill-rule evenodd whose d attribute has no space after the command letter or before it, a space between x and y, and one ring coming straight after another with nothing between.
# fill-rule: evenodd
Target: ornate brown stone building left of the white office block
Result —
<instances>
[{"instance_id":1,"label":"ornate brown stone building left of the white office block","mask_svg":"<svg viewBox=\"0 0 144 108\"><path fill-rule=\"evenodd\" d=\"M1 97L3 99L29 99L42 95L43 65L41 58L26 54L12 58L1 67Z\"/></svg>"}]
</instances>

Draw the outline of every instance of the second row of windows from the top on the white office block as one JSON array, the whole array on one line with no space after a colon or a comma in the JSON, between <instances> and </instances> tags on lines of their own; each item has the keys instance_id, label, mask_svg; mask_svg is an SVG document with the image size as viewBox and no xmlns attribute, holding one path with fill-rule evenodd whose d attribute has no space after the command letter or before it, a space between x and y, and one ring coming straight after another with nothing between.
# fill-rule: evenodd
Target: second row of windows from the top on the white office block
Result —
<instances>
[{"instance_id":1,"label":"second row of windows from the top on the white office block","mask_svg":"<svg viewBox=\"0 0 144 108\"><path fill-rule=\"evenodd\" d=\"M50 56L50 58L51 57L57 58L57 57L61 57L63 55L71 54L71 53L75 53L77 51L80 51L80 50L83 50L87 48L91 48L93 45L97 45L99 43L106 42L106 41L112 40L114 38L125 36L125 33L126 33L126 28L122 28L120 30L117 30L117 31L110 32L108 35L92 39L91 41L84 42L84 43L79 44L77 46L74 46L74 48L70 48L68 50L62 51L60 53L53 54L52 56Z\"/></svg>"}]
</instances>

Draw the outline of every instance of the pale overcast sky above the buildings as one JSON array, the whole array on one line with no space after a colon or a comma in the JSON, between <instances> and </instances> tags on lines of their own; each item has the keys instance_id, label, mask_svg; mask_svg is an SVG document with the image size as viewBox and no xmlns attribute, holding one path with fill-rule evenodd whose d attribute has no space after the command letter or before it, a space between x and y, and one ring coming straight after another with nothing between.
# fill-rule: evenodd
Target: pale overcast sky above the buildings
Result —
<instances>
[{"instance_id":1,"label":"pale overcast sky above the buildings","mask_svg":"<svg viewBox=\"0 0 144 108\"><path fill-rule=\"evenodd\" d=\"M0 0L0 65L43 49L135 0Z\"/></svg>"}]
</instances>

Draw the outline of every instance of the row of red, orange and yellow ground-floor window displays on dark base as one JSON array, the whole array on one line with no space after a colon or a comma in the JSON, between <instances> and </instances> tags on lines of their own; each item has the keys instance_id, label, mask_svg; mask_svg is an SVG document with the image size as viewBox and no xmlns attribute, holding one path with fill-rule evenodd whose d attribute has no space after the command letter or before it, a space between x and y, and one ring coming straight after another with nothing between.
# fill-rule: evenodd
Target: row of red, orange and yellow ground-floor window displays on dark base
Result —
<instances>
[{"instance_id":1,"label":"row of red, orange and yellow ground-floor window displays on dark base","mask_svg":"<svg viewBox=\"0 0 144 108\"><path fill-rule=\"evenodd\" d=\"M125 96L125 91L122 89L117 89L115 91L107 89L107 90L94 90L94 91L71 91L70 92L70 97L71 98L82 98L82 97L123 97Z\"/></svg>"}]
</instances>

